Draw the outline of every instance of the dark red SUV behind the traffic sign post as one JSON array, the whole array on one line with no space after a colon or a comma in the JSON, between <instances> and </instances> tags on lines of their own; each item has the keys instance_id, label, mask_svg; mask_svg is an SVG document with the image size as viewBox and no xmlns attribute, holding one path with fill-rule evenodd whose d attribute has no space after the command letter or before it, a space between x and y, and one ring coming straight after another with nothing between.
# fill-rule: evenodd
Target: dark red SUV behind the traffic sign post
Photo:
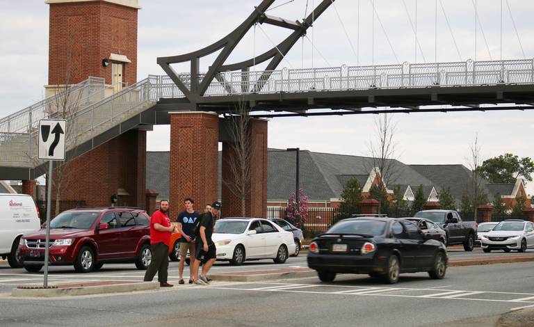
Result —
<instances>
[{"instance_id":1,"label":"dark red SUV behind the traffic sign post","mask_svg":"<svg viewBox=\"0 0 534 327\"><path fill-rule=\"evenodd\" d=\"M81 273L108 262L135 262L147 269L152 260L150 218L138 208L72 209L50 222L49 264L70 265ZM22 237L19 254L24 269L36 273L44 265L46 229Z\"/></svg>"}]
</instances>

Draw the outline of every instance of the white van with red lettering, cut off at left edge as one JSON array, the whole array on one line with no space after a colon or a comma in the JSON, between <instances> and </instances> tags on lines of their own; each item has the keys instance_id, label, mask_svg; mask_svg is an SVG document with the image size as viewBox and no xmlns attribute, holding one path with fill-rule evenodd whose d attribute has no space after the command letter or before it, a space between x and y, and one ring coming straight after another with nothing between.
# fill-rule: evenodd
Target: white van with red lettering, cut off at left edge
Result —
<instances>
[{"instance_id":1,"label":"white van with red lettering, cut off at left edge","mask_svg":"<svg viewBox=\"0 0 534 327\"><path fill-rule=\"evenodd\" d=\"M0 193L0 256L7 258L10 266L22 267L17 256L20 237L40 227L39 212L31 196Z\"/></svg>"}]
</instances>

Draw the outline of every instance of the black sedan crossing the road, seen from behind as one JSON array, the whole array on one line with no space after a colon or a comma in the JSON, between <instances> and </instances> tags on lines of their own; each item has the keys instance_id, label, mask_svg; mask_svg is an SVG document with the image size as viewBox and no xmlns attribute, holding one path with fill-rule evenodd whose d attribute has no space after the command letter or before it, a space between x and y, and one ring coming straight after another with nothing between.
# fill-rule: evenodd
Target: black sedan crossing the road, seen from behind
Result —
<instances>
[{"instance_id":1,"label":"black sedan crossing the road, seen from behind","mask_svg":"<svg viewBox=\"0 0 534 327\"><path fill-rule=\"evenodd\" d=\"M430 278L443 278L448 255L442 242L411 221L359 217L343 219L316 237L307 260L323 282L332 282L337 273L367 273L394 284L399 273L428 271Z\"/></svg>"}]
</instances>

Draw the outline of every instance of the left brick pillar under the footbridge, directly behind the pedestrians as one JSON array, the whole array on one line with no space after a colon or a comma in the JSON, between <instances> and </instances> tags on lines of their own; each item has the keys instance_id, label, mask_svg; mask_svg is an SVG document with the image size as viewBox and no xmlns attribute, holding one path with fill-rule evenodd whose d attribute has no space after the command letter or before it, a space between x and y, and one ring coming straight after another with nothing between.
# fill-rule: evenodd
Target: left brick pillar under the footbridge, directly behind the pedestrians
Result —
<instances>
[{"instance_id":1,"label":"left brick pillar under the footbridge, directly behind the pedestrians","mask_svg":"<svg viewBox=\"0 0 534 327\"><path fill-rule=\"evenodd\" d=\"M169 200L174 220L185 209L184 198L193 198L197 209L218 199L219 118L200 111L169 114Z\"/></svg>"}]
</instances>

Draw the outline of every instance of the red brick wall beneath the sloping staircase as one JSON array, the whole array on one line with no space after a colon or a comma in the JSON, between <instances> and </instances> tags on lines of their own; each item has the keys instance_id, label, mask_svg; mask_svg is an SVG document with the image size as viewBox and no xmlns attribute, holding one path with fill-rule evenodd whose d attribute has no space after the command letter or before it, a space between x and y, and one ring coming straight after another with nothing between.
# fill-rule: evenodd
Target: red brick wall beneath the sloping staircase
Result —
<instances>
[{"instance_id":1,"label":"red brick wall beneath the sloping staircase","mask_svg":"<svg viewBox=\"0 0 534 327\"><path fill-rule=\"evenodd\" d=\"M85 200L90 207L111 205L124 189L124 205L145 207L146 131L133 129L54 170L54 192L61 200ZM61 174L61 178L59 178Z\"/></svg>"}]
</instances>

